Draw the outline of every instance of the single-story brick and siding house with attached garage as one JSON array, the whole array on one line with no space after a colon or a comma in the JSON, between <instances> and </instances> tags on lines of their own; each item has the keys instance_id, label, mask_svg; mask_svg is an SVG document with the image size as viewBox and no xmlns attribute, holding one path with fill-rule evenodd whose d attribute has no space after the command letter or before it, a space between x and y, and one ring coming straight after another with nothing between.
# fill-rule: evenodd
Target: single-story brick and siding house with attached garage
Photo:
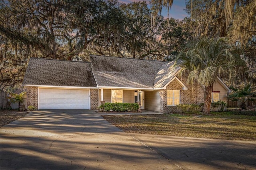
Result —
<instances>
[{"instance_id":1,"label":"single-story brick and siding house with attached garage","mask_svg":"<svg viewBox=\"0 0 256 170\"><path fill-rule=\"evenodd\" d=\"M102 102L138 102L141 109L169 113L178 104L204 102L204 88L186 83L174 62L90 55L90 62L30 58L23 80L27 106L36 109L98 109ZM214 101L230 89L218 78Z\"/></svg>"}]
</instances>

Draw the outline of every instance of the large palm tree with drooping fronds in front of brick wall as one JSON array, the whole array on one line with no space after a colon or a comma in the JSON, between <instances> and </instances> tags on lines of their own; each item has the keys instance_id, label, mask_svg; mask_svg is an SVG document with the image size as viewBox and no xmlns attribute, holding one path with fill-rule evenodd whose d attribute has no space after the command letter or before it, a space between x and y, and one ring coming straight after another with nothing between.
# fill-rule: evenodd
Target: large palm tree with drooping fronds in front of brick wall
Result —
<instances>
[{"instance_id":1,"label":"large palm tree with drooping fronds in front of brick wall","mask_svg":"<svg viewBox=\"0 0 256 170\"><path fill-rule=\"evenodd\" d=\"M236 74L232 46L225 37L217 39L201 37L186 44L186 50L178 55L175 65L188 72L188 84L197 81L204 86L204 113L210 113L212 88L219 76Z\"/></svg>"}]
</instances>

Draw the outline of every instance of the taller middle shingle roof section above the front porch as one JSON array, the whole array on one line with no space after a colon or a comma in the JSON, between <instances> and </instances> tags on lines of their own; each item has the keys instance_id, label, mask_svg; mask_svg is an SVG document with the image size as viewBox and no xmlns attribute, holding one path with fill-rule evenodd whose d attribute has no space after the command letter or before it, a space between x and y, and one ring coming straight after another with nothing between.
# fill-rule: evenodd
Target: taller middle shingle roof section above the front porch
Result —
<instances>
[{"instance_id":1,"label":"taller middle shingle roof section above the front porch","mask_svg":"<svg viewBox=\"0 0 256 170\"><path fill-rule=\"evenodd\" d=\"M166 62L90 55L98 86L153 88L158 70Z\"/></svg>"}]
</instances>

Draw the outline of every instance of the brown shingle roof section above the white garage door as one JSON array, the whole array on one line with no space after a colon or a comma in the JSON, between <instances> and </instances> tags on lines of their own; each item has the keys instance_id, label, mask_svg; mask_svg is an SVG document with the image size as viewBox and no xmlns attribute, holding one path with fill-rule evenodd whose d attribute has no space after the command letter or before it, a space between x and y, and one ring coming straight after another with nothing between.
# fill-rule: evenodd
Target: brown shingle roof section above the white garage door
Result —
<instances>
[{"instance_id":1,"label":"brown shingle roof section above the white garage door","mask_svg":"<svg viewBox=\"0 0 256 170\"><path fill-rule=\"evenodd\" d=\"M96 87L91 64L30 58L23 85Z\"/></svg>"}]
</instances>

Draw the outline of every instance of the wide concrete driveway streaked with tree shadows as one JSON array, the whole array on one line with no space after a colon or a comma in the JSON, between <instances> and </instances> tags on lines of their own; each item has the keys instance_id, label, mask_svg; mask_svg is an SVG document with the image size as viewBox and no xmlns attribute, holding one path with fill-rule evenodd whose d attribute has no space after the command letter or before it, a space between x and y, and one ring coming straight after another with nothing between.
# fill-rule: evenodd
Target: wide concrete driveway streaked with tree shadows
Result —
<instances>
[{"instance_id":1,"label":"wide concrete driveway streaked with tree shadows","mask_svg":"<svg viewBox=\"0 0 256 170\"><path fill-rule=\"evenodd\" d=\"M254 169L256 143L128 134L90 110L33 111L0 128L0 169Z\"/></svg>"}]
</instances>

